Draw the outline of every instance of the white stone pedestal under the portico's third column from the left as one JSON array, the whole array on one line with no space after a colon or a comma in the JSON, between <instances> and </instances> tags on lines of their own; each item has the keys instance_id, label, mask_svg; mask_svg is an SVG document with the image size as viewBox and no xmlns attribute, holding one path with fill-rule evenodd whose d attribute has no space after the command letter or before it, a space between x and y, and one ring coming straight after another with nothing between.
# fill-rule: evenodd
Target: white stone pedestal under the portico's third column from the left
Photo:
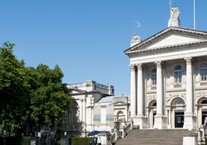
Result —
<instances>
[{"instance_id":1,"label":"white stone pedestal under the portico's third column from the left","mask_svg":"<svg viewBox=\"0 0 207 145\"><path fill-rule=\"evenodd\" d=\"M154 128L166 129L167 128L167 117L161 114L155 115Z\"/></svg>"}]
</instances>

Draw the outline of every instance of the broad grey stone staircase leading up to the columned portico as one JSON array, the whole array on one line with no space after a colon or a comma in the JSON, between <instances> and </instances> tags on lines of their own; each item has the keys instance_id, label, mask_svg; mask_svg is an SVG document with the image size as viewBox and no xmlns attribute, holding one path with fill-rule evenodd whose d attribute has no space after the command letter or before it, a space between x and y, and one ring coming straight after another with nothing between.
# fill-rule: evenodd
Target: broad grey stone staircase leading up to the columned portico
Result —
<instances>
[{"instance_id":1,"label":"broad grey stone staircase leading up to the columned portico","mask_svg":"<svg viewBox=\"0 0 207 145\"><path fill-rule=\"evenodd\" d=\"M192 134L193 131L185 129L133 129L116 145L182 145L183 136Z\"/></svg>"}]
</instances>

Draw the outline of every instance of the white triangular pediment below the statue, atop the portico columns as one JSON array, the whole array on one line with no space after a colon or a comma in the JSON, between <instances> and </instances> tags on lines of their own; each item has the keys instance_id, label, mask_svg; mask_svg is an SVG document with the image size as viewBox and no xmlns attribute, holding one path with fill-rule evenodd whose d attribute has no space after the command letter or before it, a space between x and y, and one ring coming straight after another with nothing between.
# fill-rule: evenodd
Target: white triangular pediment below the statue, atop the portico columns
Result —
<instances>
[{"instance_id":1,"label":"white triangular pediment below the statue, atop the portico columns","mask_svg":"<svg viewBox=\"0 0 207 145\"><path fill-rule=\"evenodd\" d=\"M207 32L169 27L127 49L126 54L207 41Z\"/></svg>"}]
</instances>

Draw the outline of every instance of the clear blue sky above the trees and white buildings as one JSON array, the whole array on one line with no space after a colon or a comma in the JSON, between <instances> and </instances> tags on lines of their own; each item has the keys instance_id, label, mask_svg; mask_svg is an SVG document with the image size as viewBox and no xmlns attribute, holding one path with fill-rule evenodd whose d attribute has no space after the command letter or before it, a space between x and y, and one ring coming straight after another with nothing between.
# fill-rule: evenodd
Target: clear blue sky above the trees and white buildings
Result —
<instances>
[{"instance_id":1,"label":"clear blue sky above the trees and white buildings","mask_svg":"<svg viewBox=\"0 0 207 145\"><path fill-rule=\"evenodd\" d=\"M193 0L172 0L193 28ZM64 83L95 80L129 95L133 32L146 39L167 27L169 0L0 0L0 43L16 44L26 66L59 65ZM207 31L207 1L196 0L196 28Z\"/></svg>"}]
</instances>

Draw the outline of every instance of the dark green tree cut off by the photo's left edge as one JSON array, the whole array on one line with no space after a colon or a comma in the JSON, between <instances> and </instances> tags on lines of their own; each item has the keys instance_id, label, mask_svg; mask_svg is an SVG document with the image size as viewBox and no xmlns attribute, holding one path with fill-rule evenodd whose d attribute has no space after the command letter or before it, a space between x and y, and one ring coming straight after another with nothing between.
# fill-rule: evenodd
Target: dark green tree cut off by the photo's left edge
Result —
<instances>
[{"instance_id":1,"label":"dark green tree cut off by the photo's left edge","mask_svg":"<svg viewBox=\"0 0 207 145\"><path fill-rule=\"evenodd\" d=\"M25 104L29 103L24 61L13 54L15 45L5 42L0 48L0 130L14 132L21 127Z\"/></svg>"}]
</instances>

